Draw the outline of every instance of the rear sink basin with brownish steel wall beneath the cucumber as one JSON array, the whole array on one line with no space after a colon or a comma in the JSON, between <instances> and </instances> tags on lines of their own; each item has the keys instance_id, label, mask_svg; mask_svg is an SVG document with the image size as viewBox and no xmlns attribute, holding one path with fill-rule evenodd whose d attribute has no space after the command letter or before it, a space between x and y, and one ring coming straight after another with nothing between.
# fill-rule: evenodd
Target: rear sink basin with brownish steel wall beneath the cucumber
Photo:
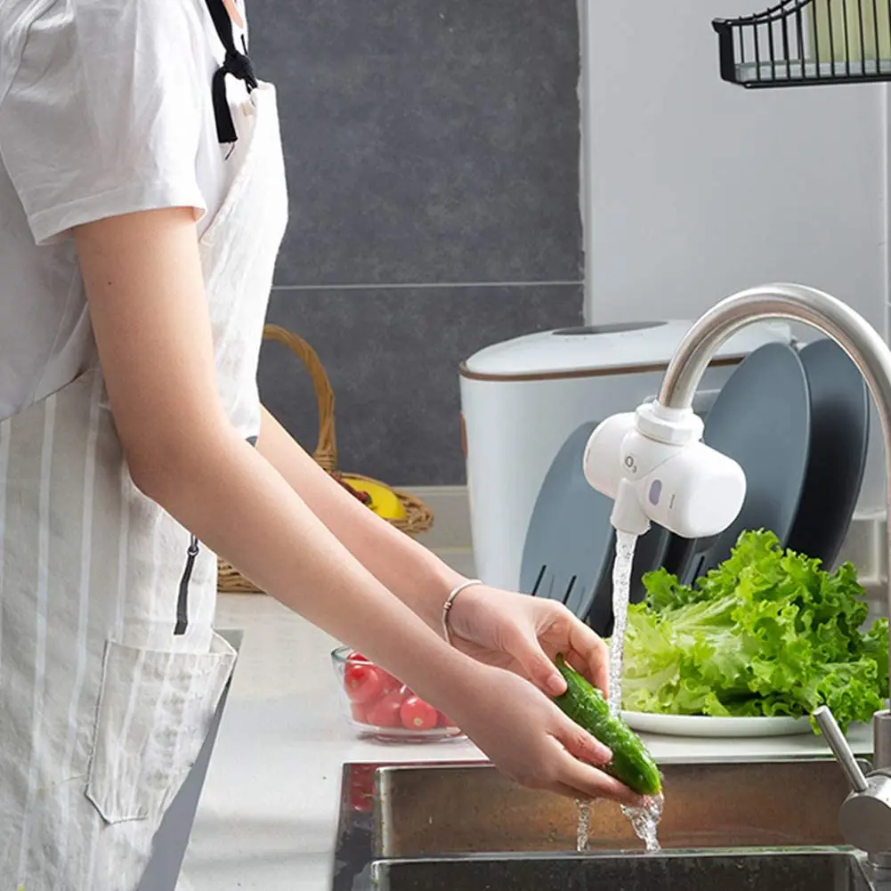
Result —
<instances>
[{"instance_id":1,"label":"rear sink basin with brownish steel wall beneath the cucumber","mask_svg":"<svg viewBox=\"0 0 891 891\"><path fill-rule=\"evenodd\" d=\"M666 849L841 846L848 787L830 760L664 764ZM575 851L576 805L522 789L486 764L406 765L377 774L374 854ZM592 805L590 847L642 847L617 805Z\"/></svg>"}]
</instances>

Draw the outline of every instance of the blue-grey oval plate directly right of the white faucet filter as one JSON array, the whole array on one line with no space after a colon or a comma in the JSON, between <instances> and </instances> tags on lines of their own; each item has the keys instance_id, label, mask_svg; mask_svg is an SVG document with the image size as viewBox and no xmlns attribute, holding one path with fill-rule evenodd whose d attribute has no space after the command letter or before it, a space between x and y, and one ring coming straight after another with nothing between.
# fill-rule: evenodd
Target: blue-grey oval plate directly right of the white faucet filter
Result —
<instances>
[{"instance_id":1,"label":"blue-grey oval plate directly right of the white faucet filter","mask_svg":"<svg viewBox=\"0 0 891 891\"><path fill-rule=\"evenodd\" d=\"M746 471L746 500L721 535L692 542L671 536L665 565L684 584L726 560L744 530L771 529L781 544L789 540L811 439L807 378L796 351L770 343L750 353L715 399L702 438Z\"/></svg>"}]
</instances>

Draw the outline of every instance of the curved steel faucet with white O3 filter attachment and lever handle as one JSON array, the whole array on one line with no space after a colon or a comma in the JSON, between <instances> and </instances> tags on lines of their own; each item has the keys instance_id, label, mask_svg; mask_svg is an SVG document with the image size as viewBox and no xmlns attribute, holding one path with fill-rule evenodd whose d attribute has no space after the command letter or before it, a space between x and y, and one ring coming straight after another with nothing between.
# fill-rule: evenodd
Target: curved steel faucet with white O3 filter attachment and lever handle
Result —
<instances>
[{"instance_id":1,"label":"curved steel faucet with white O3 filter attachment and lever handle","mask_svg":"<svg viewBox=\"0 0 891 891\"><path fill-rule=\"evenodd\" d=\"M712 534L729 526L742 506L745 482L740 488L739 468L699 442L701 421L694 420L691 405L723 342L765 319L803 322L822 331L845 350L866 380L879 410L885 444L887 565L891 566L891 349L851 307L813 288L764 285L740 291L709 309L674 353L656 403L642 405L633 414L614 415L594 431L585 451L586 478L616 501L613 525L626 532L641 534L650 520L687 537L693 537L691 527L697 522ZM699 450L696 460L691 446ZM686 461L684 453L689 453ZM709 477L708 485L695 478L700 472ZM665 497L660 500L666 485L671 488L668 504ZM891 614L891 585L888 609ZM818 708L813 717L851 784L839 813L839 829L848 844L869 854L879 871L891 874L891 713L873 716L874 755L865 774L829 709Z\"/></svg>"}]
</instances>

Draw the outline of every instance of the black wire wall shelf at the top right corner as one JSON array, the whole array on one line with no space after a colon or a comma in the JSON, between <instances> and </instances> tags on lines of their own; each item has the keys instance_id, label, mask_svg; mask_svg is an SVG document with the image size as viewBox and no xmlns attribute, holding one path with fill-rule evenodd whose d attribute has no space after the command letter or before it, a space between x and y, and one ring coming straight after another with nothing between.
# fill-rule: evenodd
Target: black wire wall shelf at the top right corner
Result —
<instances>
[{"instance_id":1,"label":"black wire wall shelf at the top right corner","mask_svg":"<svg viewBox=\"0 0 891 891\"><path fill-rule=\"evenodd\" d=\"M752 88L891 80L891 0L785 0L715 19L721 78Z\"/></svg>"}]
</instances>

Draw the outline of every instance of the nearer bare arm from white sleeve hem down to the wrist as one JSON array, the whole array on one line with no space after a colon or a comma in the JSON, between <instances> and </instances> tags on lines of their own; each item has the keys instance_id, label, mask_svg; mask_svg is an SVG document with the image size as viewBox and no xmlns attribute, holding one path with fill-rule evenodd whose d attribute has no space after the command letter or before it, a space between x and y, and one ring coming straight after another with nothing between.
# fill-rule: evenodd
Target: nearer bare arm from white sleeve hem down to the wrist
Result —
<instances>
[{"instance_id":1,"label":"nearer bare arm from white sleeve hem down to the wrist","mask_svg":"<svg viewBox=\"0 0 891 891\"><path fill-rule=\"evenodd\" d=\"M226 419L191 210L76 233L110 405L135 484L208 546L396 674L461 665ZM245 522L245 518L252 518Z\"/></svg>"}]
</instances>

